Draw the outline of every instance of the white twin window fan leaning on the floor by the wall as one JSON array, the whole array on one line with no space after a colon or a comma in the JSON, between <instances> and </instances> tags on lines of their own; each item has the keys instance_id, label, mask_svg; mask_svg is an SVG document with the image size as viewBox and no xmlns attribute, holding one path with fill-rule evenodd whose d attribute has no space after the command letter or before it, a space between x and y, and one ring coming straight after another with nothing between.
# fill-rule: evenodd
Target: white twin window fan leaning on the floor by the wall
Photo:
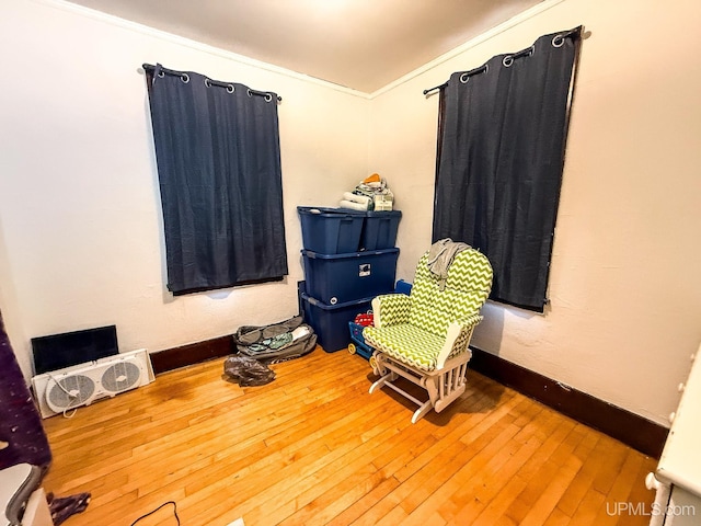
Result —
<instances>
[{"instance_id":1,"label":"white twin window fan leaning on the floor by the wall","mask_svg":"<svg viewBox=\"0 0 701 526\"><path fill-rule=\"evenodd\" d=\"M35 376L32 386L42 416L46 419L115 397L153 379L149 354L141 348Z\"/></svg>"}]
</instances>

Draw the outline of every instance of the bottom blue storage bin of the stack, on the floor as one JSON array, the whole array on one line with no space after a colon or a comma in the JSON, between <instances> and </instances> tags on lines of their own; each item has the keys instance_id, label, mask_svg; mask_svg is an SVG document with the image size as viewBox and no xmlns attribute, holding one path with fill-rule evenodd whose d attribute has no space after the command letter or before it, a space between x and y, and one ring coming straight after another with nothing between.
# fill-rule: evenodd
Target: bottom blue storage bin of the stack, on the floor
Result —
<instances>
[{"instance_id":1,"label":"bottom blue storage bin of the stack, on the floor","mask_svg":"<svg viewBox=\"0 0 701 526\"><path fill-rule=\"evenodd\" d=\"M356 299L345 304L326 305L306 293L300 293L304 322L309 323L319 339L319 345L326 353L347 348L350 343L348 322L356 315L370 309L372 298Z\"/></svg>"}]
</instances>

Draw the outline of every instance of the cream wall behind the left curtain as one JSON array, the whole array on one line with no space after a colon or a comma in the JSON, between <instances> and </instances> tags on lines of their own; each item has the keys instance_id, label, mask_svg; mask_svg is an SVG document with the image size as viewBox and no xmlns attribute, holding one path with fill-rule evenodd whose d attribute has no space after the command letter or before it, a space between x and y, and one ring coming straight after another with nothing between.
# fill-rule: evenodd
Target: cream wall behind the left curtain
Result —
<instances>
[{"instance_id":1,"label":"cream wall behind the left curtain","mask_svg":"<svg viewBox=\"0 0 701 526\"><path fill-rule=\"evenodd\" d=\"M157 61L283 96L284 283L165 289L139 72ZM153 352L297 313L296 207L367 175L367 95L54 1L3 2L0 64L0 308L27 376L32 336L116 323L123 350Z\"/></svg>"}]
</instances>

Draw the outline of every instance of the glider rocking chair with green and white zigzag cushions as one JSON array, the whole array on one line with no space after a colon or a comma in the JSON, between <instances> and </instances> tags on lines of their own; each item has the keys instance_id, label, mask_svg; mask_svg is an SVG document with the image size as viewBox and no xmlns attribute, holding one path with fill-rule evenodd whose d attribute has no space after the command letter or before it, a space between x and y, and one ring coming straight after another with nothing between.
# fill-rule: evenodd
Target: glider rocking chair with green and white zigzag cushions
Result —
<instances>
[{"instance_id":1,"label":"glider rocking chair with green and white zigzag cushions","mask_svg":"<svg viewBox=\"0 0 701 526\"><path fill-rule=\"evenodd\" d=\"M410 296L389 294L372 300L375 324L365 328L363 336L375 348L370 365L380 378L370 393L387 386L416 403L412 423L460 397L472 357L470 339L491 287L492 266L478 250L458 252L444 278L433 274L426 252ZM395 385L400 377L425 389L428 400Z\"/></svg>"}]
</instances>

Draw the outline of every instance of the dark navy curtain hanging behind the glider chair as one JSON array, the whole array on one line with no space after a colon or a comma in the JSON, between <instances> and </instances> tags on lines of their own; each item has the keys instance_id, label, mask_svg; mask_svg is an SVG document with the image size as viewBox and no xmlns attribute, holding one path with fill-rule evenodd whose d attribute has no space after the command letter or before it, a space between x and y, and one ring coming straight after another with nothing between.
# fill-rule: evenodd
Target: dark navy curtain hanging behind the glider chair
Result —
<instances>
[{"instance_id":1,"label":"dark navy curtain hanging behind the glider chair","mask_svg":"<svg viewBox=\"0 0 701 526\"><path fill-rule=\"evenodd\" d=\"M441 87L433 240L480 249L491 299L542 312L581 27Z\"/></svg>"}]
</instances>

